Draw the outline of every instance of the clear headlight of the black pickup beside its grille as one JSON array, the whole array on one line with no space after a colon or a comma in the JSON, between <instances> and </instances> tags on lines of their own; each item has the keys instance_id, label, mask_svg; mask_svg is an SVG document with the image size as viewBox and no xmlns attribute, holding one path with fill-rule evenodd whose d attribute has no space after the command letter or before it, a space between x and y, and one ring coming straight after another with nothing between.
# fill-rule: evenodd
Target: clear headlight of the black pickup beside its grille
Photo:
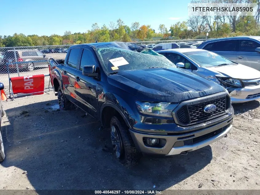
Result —
<instances>
[{"instance_id":1,"label":"clear headlight of the black pickup beside its grille","mask_svg":"<svg viewBox=\"0 0 260 195\"><path fill-rule=\"evenodd\" d=\"M171 104L167 102L150 103L136 101L135 104L138 108L138 111L143 114L164 117L172 117L172 111L178 106L178 104Z\"/></svg>"}]
</instances>

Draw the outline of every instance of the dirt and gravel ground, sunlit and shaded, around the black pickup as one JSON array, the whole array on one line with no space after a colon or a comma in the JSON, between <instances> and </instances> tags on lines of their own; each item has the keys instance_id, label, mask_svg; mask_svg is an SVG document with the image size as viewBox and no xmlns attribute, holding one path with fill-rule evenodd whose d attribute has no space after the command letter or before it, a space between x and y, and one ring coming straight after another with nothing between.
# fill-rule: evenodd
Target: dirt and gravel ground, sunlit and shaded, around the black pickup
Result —
<instances>
[{"instance_id":1,"label":"dirt and gravel ground, sunlit and shaded, around the black pickup","mask_svg":"<svg viewBox=\"0 0 260 195\"><path fill-rule=\"evenodd\" d=\"M0 189L260 189L259 101L233 105L233 129L218 142L125 168L107 152L109 132L80 109L59 110L56 98L4 102Z\"/></svg>"}]
</instances>

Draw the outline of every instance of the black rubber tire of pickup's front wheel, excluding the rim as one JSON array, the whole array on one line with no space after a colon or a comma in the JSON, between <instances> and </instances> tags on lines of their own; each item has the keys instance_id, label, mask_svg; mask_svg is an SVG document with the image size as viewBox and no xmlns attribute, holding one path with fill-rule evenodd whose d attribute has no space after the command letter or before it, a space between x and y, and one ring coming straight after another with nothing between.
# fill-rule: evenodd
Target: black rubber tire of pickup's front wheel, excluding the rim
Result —
<instances>
[{"instance_id":1,"label":"black rubber tire of pickup's front wheel, excluding the rim","mask_svg":"<svg viewBox=\"0 0 260 195\"><path fill-rule=\"evenodd\" d=\"M134 142L132 140L128 127L126 126L124 121L119 120L116 116L113 116L111 118L110 131L112 125L114 125L117 130L119 130L119 136L122 140L122 155L120 156L120 158L117 159L126 167L136 165L141 158L141 153L138 152L138 150L134 146Z\"/></svg>"}]
</instances>

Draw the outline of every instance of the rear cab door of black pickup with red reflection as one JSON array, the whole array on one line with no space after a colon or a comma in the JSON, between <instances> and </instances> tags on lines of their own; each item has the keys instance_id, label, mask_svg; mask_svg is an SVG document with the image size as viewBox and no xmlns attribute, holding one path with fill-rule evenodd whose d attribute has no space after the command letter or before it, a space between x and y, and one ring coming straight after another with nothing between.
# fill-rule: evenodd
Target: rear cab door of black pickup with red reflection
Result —
<instances>
[{"instance_id":1,"label":"rear cab door of black pickup with red reflection","mask_svg":"<svg viewBox=\"0 0 260 195\"><path fill-rule=\"evenodd\" d=\"M77 68L80 51L81 48L70 49L70 53L68 54L69 56L61 70L64 94L66 98L72 101L74 104L76 103L76 94L74 88L75 71Z\"/></svg>"}]
</instances>

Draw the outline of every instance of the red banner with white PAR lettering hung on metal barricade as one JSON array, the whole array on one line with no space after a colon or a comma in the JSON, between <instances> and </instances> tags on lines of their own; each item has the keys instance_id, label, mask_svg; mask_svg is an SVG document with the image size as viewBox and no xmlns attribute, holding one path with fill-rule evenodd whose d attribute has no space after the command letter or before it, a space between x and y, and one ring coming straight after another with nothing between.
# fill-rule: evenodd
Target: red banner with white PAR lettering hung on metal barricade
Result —
<instances>
[{"instance_id":1,"label":"red banner with white PAR lettering hung on metal barricade","mask_svg":"<svg viewBox=\"0 0 260 195\"><path fill-rule=\"evenodd\" d=\"M14 94L34 93L40 95L44 92L44 75L20 76L11 78ZM35 93L39 92L39 93Z\"/></svg>"}]
</instances>

